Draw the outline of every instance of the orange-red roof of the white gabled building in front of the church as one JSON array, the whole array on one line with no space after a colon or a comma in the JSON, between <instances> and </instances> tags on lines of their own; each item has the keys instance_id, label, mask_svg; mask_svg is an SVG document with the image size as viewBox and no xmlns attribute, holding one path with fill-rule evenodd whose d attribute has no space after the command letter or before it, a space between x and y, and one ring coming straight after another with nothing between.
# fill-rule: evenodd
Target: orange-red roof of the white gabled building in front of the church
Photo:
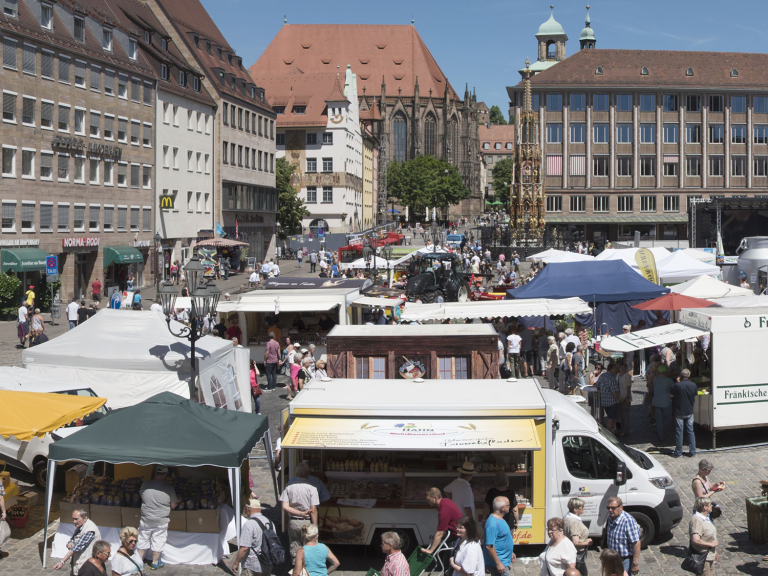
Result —
<instances>
[{"instance_id":1,"label":"orange-red roof of the white gabled building in front of the church","mask_svg":"<svg viewBox=\"0 0 768 576\"><path fill-rule=\"evenodd\" d=\"M277 115L278 128L328 124L326 95L334 91L335 74L277 74L262 76L261 82L269 104L285 106L285 113ZM294 106L306 106L304 114L294 114Z\"/></svg>"}]
</instances>

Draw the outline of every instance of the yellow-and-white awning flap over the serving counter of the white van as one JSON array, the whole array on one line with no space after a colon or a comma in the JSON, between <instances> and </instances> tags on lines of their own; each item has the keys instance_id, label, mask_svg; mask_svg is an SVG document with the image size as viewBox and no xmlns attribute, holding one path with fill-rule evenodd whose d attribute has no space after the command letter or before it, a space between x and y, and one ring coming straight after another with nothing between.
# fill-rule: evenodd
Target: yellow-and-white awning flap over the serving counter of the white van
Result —
<instances>
[{"instance_id":1,"label":"yellow-and-white awning flap over the serving counter of the white van","mask_svg":"<svg viewBox=\"0 0 768 576\"><path fill-rule=\"evenodd\" d=\"M373 420L297 418L283 448L541 450L532 418Z\"/></svg>"}]
</instances>

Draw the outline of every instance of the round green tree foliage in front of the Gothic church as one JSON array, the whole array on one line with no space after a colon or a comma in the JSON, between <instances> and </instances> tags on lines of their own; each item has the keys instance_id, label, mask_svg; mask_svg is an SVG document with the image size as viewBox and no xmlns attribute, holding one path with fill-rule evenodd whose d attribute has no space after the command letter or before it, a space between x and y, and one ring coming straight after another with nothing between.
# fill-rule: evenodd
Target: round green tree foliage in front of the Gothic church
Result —
<instances>
[{"instance_id":1,"label":"round green tree foliage in front of the Gothic church","mask_svg":"<svg viewBox=\"0 0 768 576\"><path fill-rule=\"evenodd\" d=\"M387 168L387 190L413 214L423 214L432 207L446 208L469 198L469 189L456 167L434 156L392 162Z\"/></svg>"}]
</instances>

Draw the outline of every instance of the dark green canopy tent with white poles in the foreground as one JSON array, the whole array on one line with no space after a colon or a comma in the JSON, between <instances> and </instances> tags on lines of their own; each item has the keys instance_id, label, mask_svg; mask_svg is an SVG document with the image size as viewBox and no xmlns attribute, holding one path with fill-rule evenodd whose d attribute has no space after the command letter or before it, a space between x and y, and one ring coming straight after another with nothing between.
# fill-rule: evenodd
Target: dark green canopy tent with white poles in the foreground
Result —
<instances>
[{"instance_id":1,"label":"dark green canopy tent with white poles in the foreground","mask_svg":"<svg viewBox=\"0 0 768 576\"><path fill-rule=\"evenodd\" d=\"M51 444L43 542L59 462L161 464L164 466L217 466L226 468L240 539L240 465L262 440L277 499L277 478L272 461L272 438L266 416L212 408L162 392L144 402L114 410L87 428ZM46 557L43 555L43 568Z\"/></svg>"}]
</instances>

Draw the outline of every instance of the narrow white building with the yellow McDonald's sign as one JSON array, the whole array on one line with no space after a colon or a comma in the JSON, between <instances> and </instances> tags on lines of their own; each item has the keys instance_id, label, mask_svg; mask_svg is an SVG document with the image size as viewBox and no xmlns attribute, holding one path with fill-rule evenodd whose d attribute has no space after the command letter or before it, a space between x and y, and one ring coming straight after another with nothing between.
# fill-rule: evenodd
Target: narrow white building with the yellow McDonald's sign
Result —
<instances>
[{"instance_id":1,"label":"narrow white building with the yellow McDonald's sign","mask_svg":"<svg viewBox=\"0 0 768 576\"><path fill-rule=\"evenodd\" d=\"M199 91L193 90L184 74L175 66L164 68L166 80L157 89L155 230L162 238L163 279L171 262L183 265L197 238L214 230L215 102L199 83Z\"/></svg>"}]
</instances>

